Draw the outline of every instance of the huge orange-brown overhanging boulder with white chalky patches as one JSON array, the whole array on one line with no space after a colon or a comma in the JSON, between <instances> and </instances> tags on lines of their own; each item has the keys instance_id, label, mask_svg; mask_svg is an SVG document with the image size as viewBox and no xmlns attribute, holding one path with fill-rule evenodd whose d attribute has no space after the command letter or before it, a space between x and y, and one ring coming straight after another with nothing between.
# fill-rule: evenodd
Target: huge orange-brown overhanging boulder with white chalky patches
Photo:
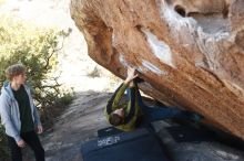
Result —
<instances>
[{"instance_id":1,"label":"huge orange-brown overhanging boulder with white chalky patches","mask_svg":"<svg viewBox=\"0 0 244 161\"><path fill-rule=\"evenodd\" d=\"M243 0L71 0L89 55L244 140Z\"/></svg>"}]
</instances>

